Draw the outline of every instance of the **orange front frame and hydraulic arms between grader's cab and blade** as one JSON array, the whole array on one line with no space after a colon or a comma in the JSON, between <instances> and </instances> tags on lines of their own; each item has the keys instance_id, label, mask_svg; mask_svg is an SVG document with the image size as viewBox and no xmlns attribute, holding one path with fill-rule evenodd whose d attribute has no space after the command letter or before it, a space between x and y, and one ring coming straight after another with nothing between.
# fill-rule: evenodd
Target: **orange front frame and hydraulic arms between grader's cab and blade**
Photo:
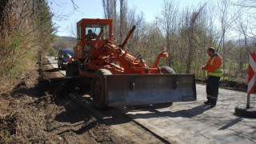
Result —
<instances>
[{"instance_id":1,"label":"orange front frame and hydraulic arms between grader's cab and blade","mask_svg":"<svg viewBox=\"0 0 256 144\"><path fill-rule=\"evenodd\" d=\"M168 54L162 52L158 54L158 58L154 62L153 66L146 66L145 60L142 58L134 58L127 50L123 48L126 46L131 34L134 33L135 26L132 27L129 34L126 36L122 45L115 46L111 43L111 39L105 42L101 42L98 46L99 38L102 36L102 32L98 34L98 38L90 47L90 62L88 68L95 69L108 69L113 74L155 74L158 73L158 62L161 57L167 58ZM120 65L114 64L114 62L120 62Z\"/></svg>"}]
</instances>

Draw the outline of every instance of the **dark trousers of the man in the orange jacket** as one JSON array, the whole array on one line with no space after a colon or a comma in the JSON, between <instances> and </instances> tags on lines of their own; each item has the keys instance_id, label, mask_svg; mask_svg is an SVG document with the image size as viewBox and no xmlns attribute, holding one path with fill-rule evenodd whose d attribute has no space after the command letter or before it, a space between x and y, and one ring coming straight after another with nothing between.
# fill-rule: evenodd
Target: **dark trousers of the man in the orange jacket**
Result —
<instances>
[{"instance_id":1,"label":"dark trousers of the man in the orange jacket","mask_svg":"<svg viewBox=\"0 0 256 144\"><path fill-rule=\"evenodd\" d=\"M209 76L208 82L206 85L206 94L207 94L208 102L215 105L218 99L219 79L220 77Z\"/></svg>"}]
</instances>

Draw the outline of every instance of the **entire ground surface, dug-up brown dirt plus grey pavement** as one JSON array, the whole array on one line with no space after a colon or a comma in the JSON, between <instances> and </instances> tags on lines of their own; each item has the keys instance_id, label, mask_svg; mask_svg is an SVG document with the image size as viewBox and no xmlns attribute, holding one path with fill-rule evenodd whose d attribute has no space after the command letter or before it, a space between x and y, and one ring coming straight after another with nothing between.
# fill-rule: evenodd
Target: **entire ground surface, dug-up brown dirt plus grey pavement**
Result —
<instances>
[{"instance_id":1,"label":"entire ground surface, dug-up brown dirt plus grey pavement","mask_svg":"<svg viewBox=\"0 0 256 144\"><path fill-rule=\"evenodd\" d=\"M256 119L234 114L235 106L245 106L245 93L220 89L210 108L202 105L205 86L197 85L196 102L97 110L90 79L63 78L51 63L38 69L34 86L23 82L0 95L0 143L256 142ZM254 96L251 101L255 106Z\"/></svg>"}]
</instances>

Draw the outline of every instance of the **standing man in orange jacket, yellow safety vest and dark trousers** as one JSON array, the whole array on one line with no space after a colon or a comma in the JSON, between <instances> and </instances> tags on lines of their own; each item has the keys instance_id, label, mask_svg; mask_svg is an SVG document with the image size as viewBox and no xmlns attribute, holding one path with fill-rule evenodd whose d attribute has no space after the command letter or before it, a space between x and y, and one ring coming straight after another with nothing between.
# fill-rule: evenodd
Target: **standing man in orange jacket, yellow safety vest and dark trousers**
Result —
<instances>
[{"instance_id":1,"label":"standing man in orange jacket, yellow safety vest and dark trousers","mask_svg":"<svg viewBox=\"0 0 256 144\"><path fill-rule=\"evenodd\" d=\"M201 66L201 69L206 70L208 75L206 85L207 101L204 104L214 107L218 99L219 80L222 77L222 58L219 54L215 53L213 47L208 48L207 54L210 59L206 66Z\"/></svg>"}]
</instances>

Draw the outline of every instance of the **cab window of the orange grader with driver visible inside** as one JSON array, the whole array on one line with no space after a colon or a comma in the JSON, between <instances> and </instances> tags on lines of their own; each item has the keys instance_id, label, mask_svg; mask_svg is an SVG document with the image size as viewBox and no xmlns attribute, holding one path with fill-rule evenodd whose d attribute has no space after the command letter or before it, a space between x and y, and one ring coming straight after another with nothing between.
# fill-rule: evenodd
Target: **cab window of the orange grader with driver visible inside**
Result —
<instances>
[{"instance_id":1,"label":"cab window of the orange grader with driver visible inside","mask_svg":"<svg viewBox=\"0 0 256 144\"><path fill-rule=\"evenodd\" d=\"M110 36L110 25L106 24L86 24L86 40L94 41L98 37L98 34L103 30L102 39L106 39Z\"/></svg>"}]
</instances>

